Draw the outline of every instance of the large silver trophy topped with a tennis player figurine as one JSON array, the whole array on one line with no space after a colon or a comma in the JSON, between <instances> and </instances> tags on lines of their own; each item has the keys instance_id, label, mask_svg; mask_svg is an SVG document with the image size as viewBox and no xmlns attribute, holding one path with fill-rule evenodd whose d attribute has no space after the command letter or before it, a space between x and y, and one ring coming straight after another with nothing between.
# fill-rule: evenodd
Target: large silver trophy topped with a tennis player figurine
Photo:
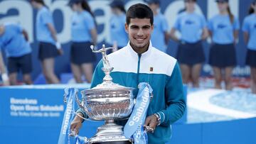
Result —
<instances>
[{"instance_id":1,"label":"large silver trophy topped with a tennis player figurine","mask_svg":"<svg viewBox=\"0 0 256 144\"><path fill-rule=\"evenodd\" d=\"M123 87L112 82L110 73L113 67L111 67L106 53L112 48L105 48L105 45L100 50L94 50L93 46L91 48L92 52L102 53L104 62L102 70L105 72L105 77L102 84L81 92L82 101L78 95L75 99L87 116L94 121L104 120L105 124L97 128L97 133L92 138L85 139L88 143L132 143L132 139L124 137L123 127L114 123L114 120L125 119L132 113L135 104L132 93L134 88Z\"/></svg>"}]
</instances>

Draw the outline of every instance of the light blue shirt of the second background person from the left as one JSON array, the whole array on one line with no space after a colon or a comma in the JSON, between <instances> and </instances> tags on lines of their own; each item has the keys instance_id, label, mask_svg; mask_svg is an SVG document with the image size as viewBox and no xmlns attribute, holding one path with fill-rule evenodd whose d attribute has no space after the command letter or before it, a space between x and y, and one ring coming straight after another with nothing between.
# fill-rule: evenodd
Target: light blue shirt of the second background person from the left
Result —
<instances>
[{"instance_id":1,"label":"light blue shirt of the second background person from the left","mask_svg":"<svg viewBox=\"0 0 256 144\"><path fill-rule=\"evenodd\" d=\"M53 40L53 37L47 26L48 23L51 23L54 26L53 16L44 6L38 11L36 15L36 39L40 42L55 44L55 40Z\"/></svg>"}]
</instances>

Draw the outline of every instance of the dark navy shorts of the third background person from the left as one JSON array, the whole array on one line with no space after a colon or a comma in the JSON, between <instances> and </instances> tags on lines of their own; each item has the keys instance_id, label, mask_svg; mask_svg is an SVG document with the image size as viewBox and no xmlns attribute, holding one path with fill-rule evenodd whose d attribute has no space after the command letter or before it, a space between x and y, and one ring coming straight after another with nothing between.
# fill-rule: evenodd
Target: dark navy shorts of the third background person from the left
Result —
<instances>
[{"instance_id":1,"label":"dark navy shorts of the third background person from the left","mask_svg":"<svg viewBox=\"0 0 256 144\"><path fill-rule=\"evenodd\" d=\"M90 49L90 42L81 42L71 44L70 61L76 65L92 63L96 61L96 55Z\"/></svg>"}]
</instances>

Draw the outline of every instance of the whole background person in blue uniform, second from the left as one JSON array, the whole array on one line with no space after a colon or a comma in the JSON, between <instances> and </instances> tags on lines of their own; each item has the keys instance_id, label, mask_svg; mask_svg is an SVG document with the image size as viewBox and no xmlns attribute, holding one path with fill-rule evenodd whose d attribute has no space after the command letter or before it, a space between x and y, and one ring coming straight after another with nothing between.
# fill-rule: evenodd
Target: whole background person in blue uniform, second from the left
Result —
<instances>
[{"instance_id":1,"label":"whole background person in blue uniform, second from the left","mask_svg":"<svg viewBox=\"0 0 256 144\"><path fill-rule=\"evenodd\" d=\"M36 39L39 42L38 58L41 61L43 75L48 84L60 82L54 73L54 58L63 55L58 42L53 16L43 0L31 0L33 8L38 10L36 15Z\"/></svg>"}]
</instances>

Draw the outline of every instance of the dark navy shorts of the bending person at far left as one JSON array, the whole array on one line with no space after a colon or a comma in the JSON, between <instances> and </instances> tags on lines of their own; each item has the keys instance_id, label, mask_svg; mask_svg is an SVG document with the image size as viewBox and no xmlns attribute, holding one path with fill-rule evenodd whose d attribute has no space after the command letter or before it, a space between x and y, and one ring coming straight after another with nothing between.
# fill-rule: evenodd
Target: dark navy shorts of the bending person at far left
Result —
<instances>
[{"instance_id":1,"label":"dark navy shorts of the bending person at far left","mask_svg":"<svg viewBox=\"0 0 256 144\"><path fill-rule=\"evenodd\" d=\"M30 74L32 72L31 53L21 57L8 57L7 67L9 74L19 72L20 70L22 74Z\"/></svg>"}]
</instances>

